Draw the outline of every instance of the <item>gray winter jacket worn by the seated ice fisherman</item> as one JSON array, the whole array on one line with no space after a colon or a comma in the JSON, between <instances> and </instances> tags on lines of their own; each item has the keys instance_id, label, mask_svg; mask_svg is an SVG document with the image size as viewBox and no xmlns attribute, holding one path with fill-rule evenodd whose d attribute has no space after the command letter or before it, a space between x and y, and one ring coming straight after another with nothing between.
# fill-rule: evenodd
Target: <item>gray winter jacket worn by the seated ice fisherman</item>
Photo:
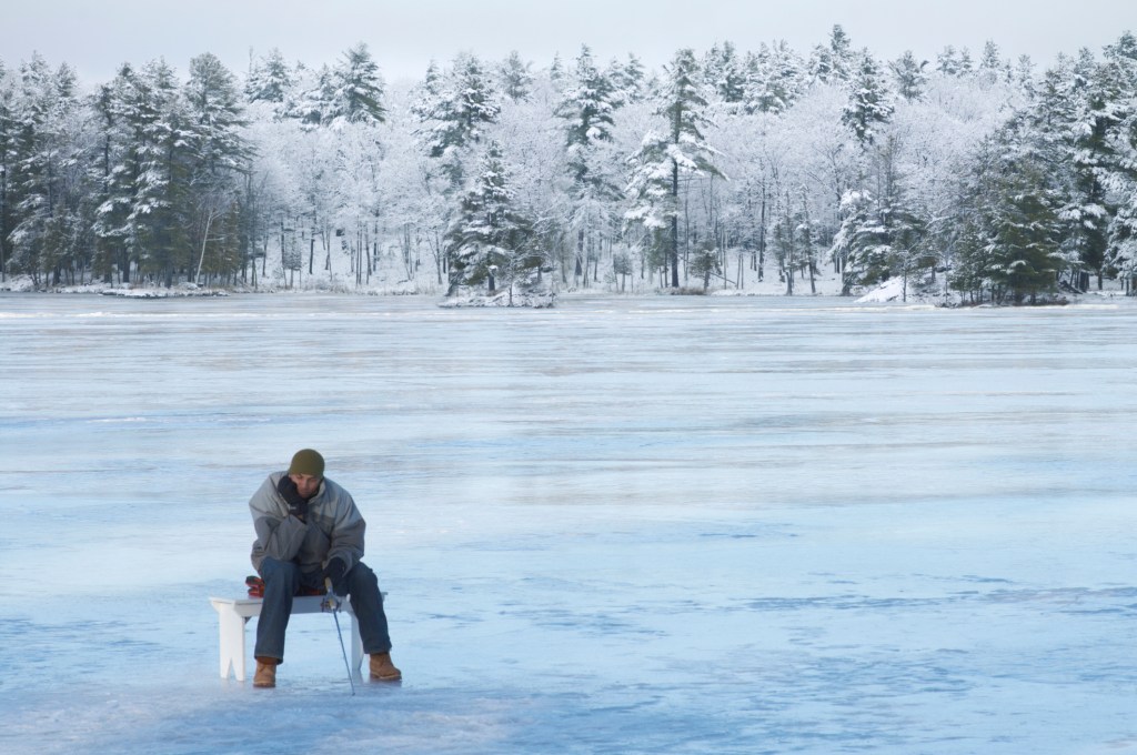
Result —
<instances>
[{"instance_id":1,"label":"gray winter jacket worn by the seated ice fisherman","mask_svg":"<svg viewBox=\"0 0 1137 755\"><path fill-rule=\"evenodd\" d=\"M252 526L252 566L260 571L265 557L292 561L305 572L318 571L332 558L342 558L348 570L363 558L367 523L351 493L327 478L308 501L307 522L289 516L288 504L276 491L287 472L273 472L249 499Z\"/></svg>"}]
</instances>

